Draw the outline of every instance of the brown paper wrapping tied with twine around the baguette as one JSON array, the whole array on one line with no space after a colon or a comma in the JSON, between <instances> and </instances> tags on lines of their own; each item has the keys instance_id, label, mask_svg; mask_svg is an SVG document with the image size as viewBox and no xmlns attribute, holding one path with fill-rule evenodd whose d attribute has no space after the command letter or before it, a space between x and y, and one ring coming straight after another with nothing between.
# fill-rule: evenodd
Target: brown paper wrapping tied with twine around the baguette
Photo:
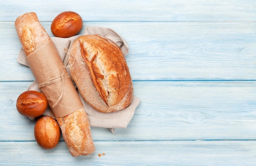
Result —
<instances>
[{"instance_id":1,"label":"brown paper wrapping tied with twine around the baguette","mask_svg":"<svg viewBox=\"0 0 256 166\"><path fill-rule=\"evenodd\" d=\"M52 41L37 44L26 61L55 117L63 117L83 107L58 51Z\"/></svg>"}]
</instances>

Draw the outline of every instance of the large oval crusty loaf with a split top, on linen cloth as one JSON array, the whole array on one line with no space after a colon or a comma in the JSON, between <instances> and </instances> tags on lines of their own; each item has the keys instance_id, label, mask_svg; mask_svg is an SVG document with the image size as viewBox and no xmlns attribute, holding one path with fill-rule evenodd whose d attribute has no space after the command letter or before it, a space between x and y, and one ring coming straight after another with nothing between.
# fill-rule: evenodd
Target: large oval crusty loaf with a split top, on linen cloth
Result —
<instances>
[{"instance_id":1,"label":"large oval crusty loaf with a split top, on linen cloth","mask_svg":"<svg viewBox=\"0 0 256 166\"><path fill-rule=\"evenodd\" d=\"M101 112L130 105L132 79L123 52L101 35L84 35L70 49L70 73L84 100Z\"/></svg>"}]
</instances>

